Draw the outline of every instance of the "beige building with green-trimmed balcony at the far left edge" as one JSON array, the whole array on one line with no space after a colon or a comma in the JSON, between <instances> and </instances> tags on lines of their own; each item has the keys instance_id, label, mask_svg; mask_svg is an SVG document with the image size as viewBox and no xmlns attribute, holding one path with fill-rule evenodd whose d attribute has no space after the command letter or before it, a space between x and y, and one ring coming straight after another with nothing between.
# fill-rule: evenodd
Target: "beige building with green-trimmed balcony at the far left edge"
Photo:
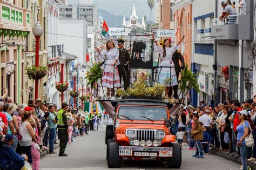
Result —
<instances>
[{"instance_id":1,"label":"beige building with green-trimmed balcony at the far left edge","mask_svg":"<svg viewBox=\"0 0 256 170\"><path fill-rule=\"evenodd\" d=\"M26 37L31 31L30 1L0 0L1 91L16 103L25 103Z\"/></svg>"}]
</instances>

